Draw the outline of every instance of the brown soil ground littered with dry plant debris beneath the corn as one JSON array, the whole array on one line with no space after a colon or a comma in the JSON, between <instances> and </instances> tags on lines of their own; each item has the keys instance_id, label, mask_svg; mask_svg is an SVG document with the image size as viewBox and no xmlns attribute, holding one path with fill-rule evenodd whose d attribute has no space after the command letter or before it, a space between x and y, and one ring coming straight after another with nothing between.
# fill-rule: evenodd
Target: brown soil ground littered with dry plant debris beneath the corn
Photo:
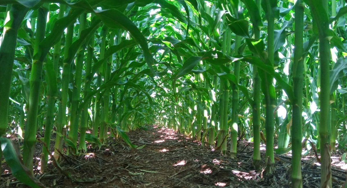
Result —
<instances>
[{"instance_id":1,"label":"brown soil ground littered with dry plant debris beneath the corn","mask_svg":"<svg viewBox=\"0 0 347 188\"><path fill-rule=\"evenodd\" d=\"M133 144L144 147L130 149L123 140L110 138L100 149L89 144L82 156L62 156L61 169L70 178L52 162L45 173L39 173L41 150L36 147L35 177L47 187L67 188L290 187L290 155L276 155L274 174L268 177L264 168L254 170L252 143L245 140L238 143L236 159L167 128L149 126L127 134ZM261 155L264 166L265 151ZM341 160L341 155L333 154L332 158ZM320 187L320 166L315 156L303 156L302 168L304 187ZM12 176L6 163L1 173L0 187L27 187ZM333 187L342 187L346 174L346 170L332 165Z\"/></svg>"}]
</instances>

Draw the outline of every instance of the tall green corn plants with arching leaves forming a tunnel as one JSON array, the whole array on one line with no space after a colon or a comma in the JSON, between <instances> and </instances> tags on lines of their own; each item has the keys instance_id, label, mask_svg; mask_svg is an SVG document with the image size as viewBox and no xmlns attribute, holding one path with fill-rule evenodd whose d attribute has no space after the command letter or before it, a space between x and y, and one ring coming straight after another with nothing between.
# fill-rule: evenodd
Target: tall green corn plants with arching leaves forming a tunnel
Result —
<instances>
[{"instance_id":1,"label":"tall green corn plants with arching leaves forming a tunnel","mask_svg":"<svg viewBox=\"0 0 347 188\"><path fill-rule=\"evenodd\" d=\"M86 143L122 137L136 148L125 132L157 123L230 157L238 140L253 142L254 168L269 176L274 153L290 152L293 187L302 154L317 148L321 187L331 187L331 152L347 143L345 5L1 1L0 134L23 142L17 151L1 138L3 156L37 187L26 172L38 142L45 171ZM20 152L23 166L10 162Z\"/></svg>"}]
</instances>

